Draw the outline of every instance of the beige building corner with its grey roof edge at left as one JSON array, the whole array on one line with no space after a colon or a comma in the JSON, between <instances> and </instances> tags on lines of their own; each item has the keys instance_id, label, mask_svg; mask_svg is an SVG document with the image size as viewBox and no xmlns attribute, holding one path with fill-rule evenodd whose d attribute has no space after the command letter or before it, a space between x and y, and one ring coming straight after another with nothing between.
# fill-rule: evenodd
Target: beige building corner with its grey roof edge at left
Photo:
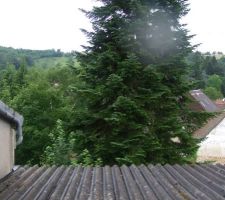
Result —
<instances>
[{"instance_id":1,"label":"beige building corner with its grey roof edge at left","mask_svg":"<svg viewBox=\"0 0 225 200\"><path fill-rule=\"evenodd\" d=\"M0 179L14 167L16 146L23 140L23 117L0 101Z\"/></svg>"}]
</instances>

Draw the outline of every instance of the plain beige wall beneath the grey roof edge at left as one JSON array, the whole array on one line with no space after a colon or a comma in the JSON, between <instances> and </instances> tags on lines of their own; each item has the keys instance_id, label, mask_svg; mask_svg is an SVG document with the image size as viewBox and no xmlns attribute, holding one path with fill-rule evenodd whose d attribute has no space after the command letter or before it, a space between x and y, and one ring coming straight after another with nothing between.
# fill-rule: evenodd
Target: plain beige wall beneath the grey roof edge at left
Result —
<instances>
[{"instance_id":1,"label":"plain beige wall beneath the grey roof edge at left","mask_svg":"<svg viewBox=\"0 0 225 200\"><path fill-rule=\"evenodd\" d=\"M0 178L11 172L16 148L15 131L10 124L0 119Z\"/></svg>"}]
</instances>

